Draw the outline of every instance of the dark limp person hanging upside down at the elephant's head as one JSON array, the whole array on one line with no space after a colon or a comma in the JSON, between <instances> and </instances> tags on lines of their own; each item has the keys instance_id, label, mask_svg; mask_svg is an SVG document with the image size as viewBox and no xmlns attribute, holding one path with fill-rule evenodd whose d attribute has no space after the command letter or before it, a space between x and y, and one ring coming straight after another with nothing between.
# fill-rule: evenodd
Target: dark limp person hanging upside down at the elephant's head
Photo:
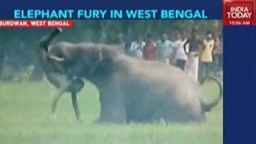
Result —
<instances>
[{"instance_id":1,"label":"dark limp person hanging upside down at the elephant's head","mask_svg":"<svg viewBox=\"0 0 256 144\"><path fill-rule=\"evenodd\" d=\"M84 86L84 82L81 78L77 78L71 75L67 75L64 69L61 65L58 65L58 63L50 61L52 58L51 55L48 54L50 41L60 32L62 32L62 29L54 29L50 34L47 34L39 41L40 49L39 55L40 60L42 63L42 68L46 74L46 78L48 81L53 84L56 88L58 88L57 94L54 95L54 99L52 101L52 117L55 119L57 118L55 114L55 110L58 104L59 98L65 93L70 92L71 98L72 98L72 105L74 108L74 113L76 115L76 118L78 122L82 122L80 119L80 110L78 108L78 102L77 102L77 93L82 90L82 87ZM58 59L59 60L59 59Z\"/></svg>"}]
</instances>

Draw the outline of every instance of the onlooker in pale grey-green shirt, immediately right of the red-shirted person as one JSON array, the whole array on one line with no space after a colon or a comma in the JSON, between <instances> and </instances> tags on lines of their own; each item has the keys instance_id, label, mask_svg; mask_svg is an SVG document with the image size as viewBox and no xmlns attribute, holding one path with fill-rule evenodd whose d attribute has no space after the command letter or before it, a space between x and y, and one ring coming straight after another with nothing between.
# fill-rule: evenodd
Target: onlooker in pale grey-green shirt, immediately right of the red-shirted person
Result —
<instances>
[{"instance_id":1,"label":"onlooker in pale grey-green shirt, immediately right of the red-shirted person","mask_svg":"<svg viewBox=\"0 0 256 144\"><path fill-rule=\"evenodd\" d=\"M169 64L169 58L174 52L174 43L170 42L167 34L163 33L161 40L157 42L157 58L160 62Z\"/></svg>"}]
</instances>

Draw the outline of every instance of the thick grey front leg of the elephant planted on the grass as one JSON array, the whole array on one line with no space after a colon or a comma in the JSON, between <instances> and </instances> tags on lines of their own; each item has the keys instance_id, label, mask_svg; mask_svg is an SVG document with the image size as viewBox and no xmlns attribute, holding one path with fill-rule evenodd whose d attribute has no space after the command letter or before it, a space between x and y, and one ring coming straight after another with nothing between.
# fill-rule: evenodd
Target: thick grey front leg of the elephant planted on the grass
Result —
<instances>
[{"instance_id":1,"label":"thick grey front leg of the elephant planted on the grass","mask_svg":"<svg viewBox=\"0 0 256 144\"><path fill-rule=\"evenodd\" d=\"M100 90L100 123L127 123L126 106L120 90Z\"/></svg>"}]
</instances>

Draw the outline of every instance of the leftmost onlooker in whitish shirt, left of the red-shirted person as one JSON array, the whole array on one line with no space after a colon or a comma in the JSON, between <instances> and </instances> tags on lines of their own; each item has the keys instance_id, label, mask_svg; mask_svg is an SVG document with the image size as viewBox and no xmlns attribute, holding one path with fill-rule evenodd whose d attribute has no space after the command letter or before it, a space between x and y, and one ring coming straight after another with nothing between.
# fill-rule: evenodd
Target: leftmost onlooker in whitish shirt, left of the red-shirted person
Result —
<instances>
[{"instance_id":1,"label":"leftmost onlooker in whitish shirt, left of the red-shirted person","mask_svg":"<svg viewBox=\"0 0 256 144\"><path fill-rule=\"evenodd\" d=\"M144 42L142 36L139 35L138 39L130 45L130 54L132 54L134 58L142 58L142 52L145 45L146 42Z\"/></svg>"}]
</instances>

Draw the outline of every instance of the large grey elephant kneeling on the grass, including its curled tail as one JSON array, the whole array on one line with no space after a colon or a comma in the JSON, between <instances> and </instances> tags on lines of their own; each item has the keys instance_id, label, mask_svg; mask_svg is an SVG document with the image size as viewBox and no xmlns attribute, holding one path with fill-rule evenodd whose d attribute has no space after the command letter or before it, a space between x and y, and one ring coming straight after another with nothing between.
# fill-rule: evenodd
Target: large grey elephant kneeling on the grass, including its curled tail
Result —
<instances>
[{"instance_id":1,"label":"large grey elephant kneeling on the grass, including its curled tail","mask_svg":"<svg viewBox=\"0 0 256 144\"><path fill-rule=\"evenodd\" d=\"M206 113L222 100L206 102L197 82L175 66L131 58L114 46L97 43L57 42L50 46L50 61L66 73L86 78L98 88L97 122L206 122Z\"/></svg>"}]
</instances>

